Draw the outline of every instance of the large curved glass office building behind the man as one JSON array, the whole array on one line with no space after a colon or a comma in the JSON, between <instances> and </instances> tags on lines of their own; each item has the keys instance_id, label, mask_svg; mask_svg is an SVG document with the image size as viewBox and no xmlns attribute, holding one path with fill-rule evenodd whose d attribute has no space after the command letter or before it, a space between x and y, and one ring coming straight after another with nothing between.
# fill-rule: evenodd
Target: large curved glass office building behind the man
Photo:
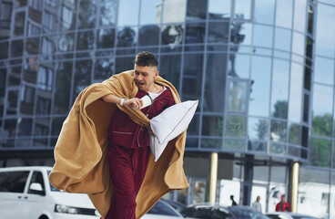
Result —
<instances>
[{"instance_id":1,"label":"large curved glass office building behind the man","mask_svg":"<svg viewBox=\"0 0 335 219\"><path fill-rule=\"evenodd\" d=\"M273 212L299 163L298 212L335 218L334 24L333 0L0 0L0 166L52 165L78 93L146 50L200 100L167 198L208 202L218 152L219 203Z\"/></svg>"}]
</instances>

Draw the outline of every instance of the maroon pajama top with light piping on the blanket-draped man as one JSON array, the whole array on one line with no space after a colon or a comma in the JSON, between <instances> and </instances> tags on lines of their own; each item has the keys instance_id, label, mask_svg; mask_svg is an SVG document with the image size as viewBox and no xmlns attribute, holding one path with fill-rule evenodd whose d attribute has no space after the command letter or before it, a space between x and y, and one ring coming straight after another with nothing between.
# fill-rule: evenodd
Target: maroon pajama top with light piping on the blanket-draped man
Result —
<instances>
[{"instance_id":1,"label":"maroon pajama top with light piping on the blanket-draped man","mask_svg":"<svg viewBox=\"0 0 335 219\"><path fill-rule=\"evenodd\" d=\"M141 99L148 95L147 91L138 90L135 98ZM164 90L153 103L141 109L149 120L156 117L163 110L175 104L170 89ZM109 143L125 148L138 148L149 146L149 130L138 125L123 111L114 112L108 129Z\"/></svg>"}]
</instances>

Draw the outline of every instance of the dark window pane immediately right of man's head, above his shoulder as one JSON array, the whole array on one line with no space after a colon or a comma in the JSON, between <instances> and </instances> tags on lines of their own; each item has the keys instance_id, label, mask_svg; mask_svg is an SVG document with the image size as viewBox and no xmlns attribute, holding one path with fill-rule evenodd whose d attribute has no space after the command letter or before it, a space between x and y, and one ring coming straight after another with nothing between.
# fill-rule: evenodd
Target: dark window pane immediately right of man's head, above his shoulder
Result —
<instances>
[{"instance_id":1,"label":"dark window pane immediately right of man's head, above his shoulder","mask_svg":"<svg viewBox=\"0 0 335 219\"><path fill-rule=\"evenodd\" d=\"M179 90L181 55L161 55L159 63L159 76Z\"/></svg>"}]
</instances>

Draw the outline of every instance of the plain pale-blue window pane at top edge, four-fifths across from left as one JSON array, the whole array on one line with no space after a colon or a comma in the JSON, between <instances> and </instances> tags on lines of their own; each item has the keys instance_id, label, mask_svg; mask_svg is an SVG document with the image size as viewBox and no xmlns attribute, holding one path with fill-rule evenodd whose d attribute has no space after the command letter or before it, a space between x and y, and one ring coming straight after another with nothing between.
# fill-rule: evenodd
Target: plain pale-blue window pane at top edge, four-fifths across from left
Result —
<instances>
[{"instance_id":1,"label":"plain pale-blue window pane at top edge, four-fifths across from left","mask_svg":"<svg viewBox=\"0 0 335 219\"><path fill-rule=\"evenodd\" d=\"M254 22L273 25L275 0L256 0Z\"/></svg>"}]
</instances>

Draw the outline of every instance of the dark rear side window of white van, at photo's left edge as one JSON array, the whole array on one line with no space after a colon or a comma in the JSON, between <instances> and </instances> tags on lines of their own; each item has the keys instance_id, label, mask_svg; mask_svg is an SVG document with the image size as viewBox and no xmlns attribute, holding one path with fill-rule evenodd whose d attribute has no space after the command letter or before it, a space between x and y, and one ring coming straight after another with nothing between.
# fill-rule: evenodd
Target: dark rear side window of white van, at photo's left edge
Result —
<instances>
[{"instance_id":1,"label":"dark rear side window of white van, at photo's left edge","mask_svg":"<svg viewBox=\"0 0 335 219\"><path fill-rule=\"evenodd\" d=\"M0 192L23 193L29 171L0 172Z\"/></svg>"}]
</instances>

